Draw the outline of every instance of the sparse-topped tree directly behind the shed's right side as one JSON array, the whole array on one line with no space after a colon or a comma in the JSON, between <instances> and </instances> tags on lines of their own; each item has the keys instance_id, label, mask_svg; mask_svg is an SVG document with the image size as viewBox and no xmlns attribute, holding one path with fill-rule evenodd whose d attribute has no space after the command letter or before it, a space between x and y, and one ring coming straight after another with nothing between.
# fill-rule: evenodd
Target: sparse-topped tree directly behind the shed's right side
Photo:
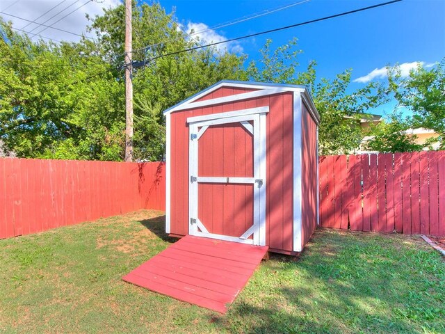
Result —
<instances>
[{"instance_id":1,"label":"sparse-topped tree directly behind the shed's right side","mask_svg":"<svg viewBox=\"0 0 445 334\"><path fill-rule=\"evenodd\" d=\"M312 61L307 70L296 72L298 54L301 53L296 49L297 39L274 51L270 49L271 43L268 40L261 49L261 61L250 63L248 79L307 86L321 118L318 129L320 153L344 154L357 149L363 137L360 120L368 117L368 109L385 101L382 86L371 83L348 93L352 70L345 70L334 79L319 79L316 62Z\"/></svg>"}]
</instances>

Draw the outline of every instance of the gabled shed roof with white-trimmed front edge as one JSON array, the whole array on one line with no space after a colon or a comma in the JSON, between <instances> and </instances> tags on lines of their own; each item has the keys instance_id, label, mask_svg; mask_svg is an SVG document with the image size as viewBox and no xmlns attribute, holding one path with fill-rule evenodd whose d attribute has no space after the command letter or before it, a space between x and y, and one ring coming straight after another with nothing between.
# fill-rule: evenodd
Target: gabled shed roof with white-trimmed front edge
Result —
<instances>
[{"instance_id":1,"label":"gabled shed roof with white-trimmed front edge","mask_svg":"<svg viewBox=\"0 0 445 334\"><path fill-rule=\"evenodd\" d=\"M166 109L163 113L164 115L168 113L172 113L174 111L180 111L184 109L191 109L193 108L193 102L196 100L199 100L201 97L208 95L212 93L214 90L217 90L221 87L234 87L234 88L257 88L258 90L267 90L266 95L272 95L276 93L282 93L282 92L293 92L293 91L300 91L300 93L304 94L305 97L307 97L307 102L309 104L309 109L311 109L312 114L316 118L316 122L318 123L320 120L320 116L318 115L318 111L316 110L314 106L314 101L312 100L312 96L309 93L309 90L307 86L303 85L292 85L292 84L272 84L272 83L263 83L263 82L254 82L254 81L235 81L235 80L222 80L218 83L214 84L213 86L210 86L209 88L206 88L199 93L196 93L195 95L192 95L191 97L188 97L188 99L183 100L179 102L178 104L175 104L174 106L171 106L170 108ZM246 99L249 97L246 97ZM218 99L215 99L218 100ZM219 102L223 103L223 102ZM190 104L190 107L188 107L188 104Z\"/></svg>"}]
</instances>

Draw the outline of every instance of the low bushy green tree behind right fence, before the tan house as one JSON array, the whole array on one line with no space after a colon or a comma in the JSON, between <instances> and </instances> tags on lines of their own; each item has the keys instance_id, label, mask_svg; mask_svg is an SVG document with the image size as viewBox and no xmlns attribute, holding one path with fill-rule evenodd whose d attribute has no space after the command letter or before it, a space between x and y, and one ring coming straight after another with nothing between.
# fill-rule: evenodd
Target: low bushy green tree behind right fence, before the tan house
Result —
<instances>
[{"instance_id":1,"label":"low bushy green tree behind right fence, before the tan house","mask_svg":"<svg viewBox=\"0 0 445 334\"><path fill-rule=\"evenodd\" d=\"M422 150L425 145L416 143L416 135L406 134L410 122L399 114L392 114L389 122L382 121L372 125L369 130L371 138L363 145L364 150L376 152L414 152Z\"/></svg>"}]
</instances>

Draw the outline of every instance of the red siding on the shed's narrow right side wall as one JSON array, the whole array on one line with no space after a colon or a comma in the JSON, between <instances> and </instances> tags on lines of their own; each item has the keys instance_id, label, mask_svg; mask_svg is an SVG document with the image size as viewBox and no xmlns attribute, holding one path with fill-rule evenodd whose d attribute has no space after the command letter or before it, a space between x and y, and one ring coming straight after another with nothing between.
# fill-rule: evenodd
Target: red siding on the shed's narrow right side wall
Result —
<instances>
[{"instance_id":1,"label":"red siding on the shed's narrow right side wall","mask_svg":"<svg viewBox=\"0 0 445 334\"><path fill-rule=\"evenodd\" d=\"M302 248L314 233L317 222L316 122L302 103Z\"/></svg>"}]
</instances>

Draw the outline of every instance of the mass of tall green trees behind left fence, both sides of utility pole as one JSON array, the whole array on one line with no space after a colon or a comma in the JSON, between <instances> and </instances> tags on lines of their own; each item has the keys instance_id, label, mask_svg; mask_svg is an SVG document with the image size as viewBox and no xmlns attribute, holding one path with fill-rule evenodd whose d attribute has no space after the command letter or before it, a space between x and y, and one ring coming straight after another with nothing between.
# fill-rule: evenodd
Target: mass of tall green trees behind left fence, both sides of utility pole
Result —
<instances>
[{"instance_id":1,"label":"mass of tall green trees behind left fence, both sides of utility pole","mask_svg":"<svg viewBox=\"0 0 445 334\"><path fill-rule=\"evenodd\" d=\"M196 42L159 3L133 8L135 61ZM122 160L124 6L90 17L95 42L31 41L0 22L0 140L19 157ZM149 47L146 47L149 45ZM161 112L220 79L236 79L243 56L196 50L148 61L134 73L134 157L162 159Z\"/></svg>"}]
</instances>

